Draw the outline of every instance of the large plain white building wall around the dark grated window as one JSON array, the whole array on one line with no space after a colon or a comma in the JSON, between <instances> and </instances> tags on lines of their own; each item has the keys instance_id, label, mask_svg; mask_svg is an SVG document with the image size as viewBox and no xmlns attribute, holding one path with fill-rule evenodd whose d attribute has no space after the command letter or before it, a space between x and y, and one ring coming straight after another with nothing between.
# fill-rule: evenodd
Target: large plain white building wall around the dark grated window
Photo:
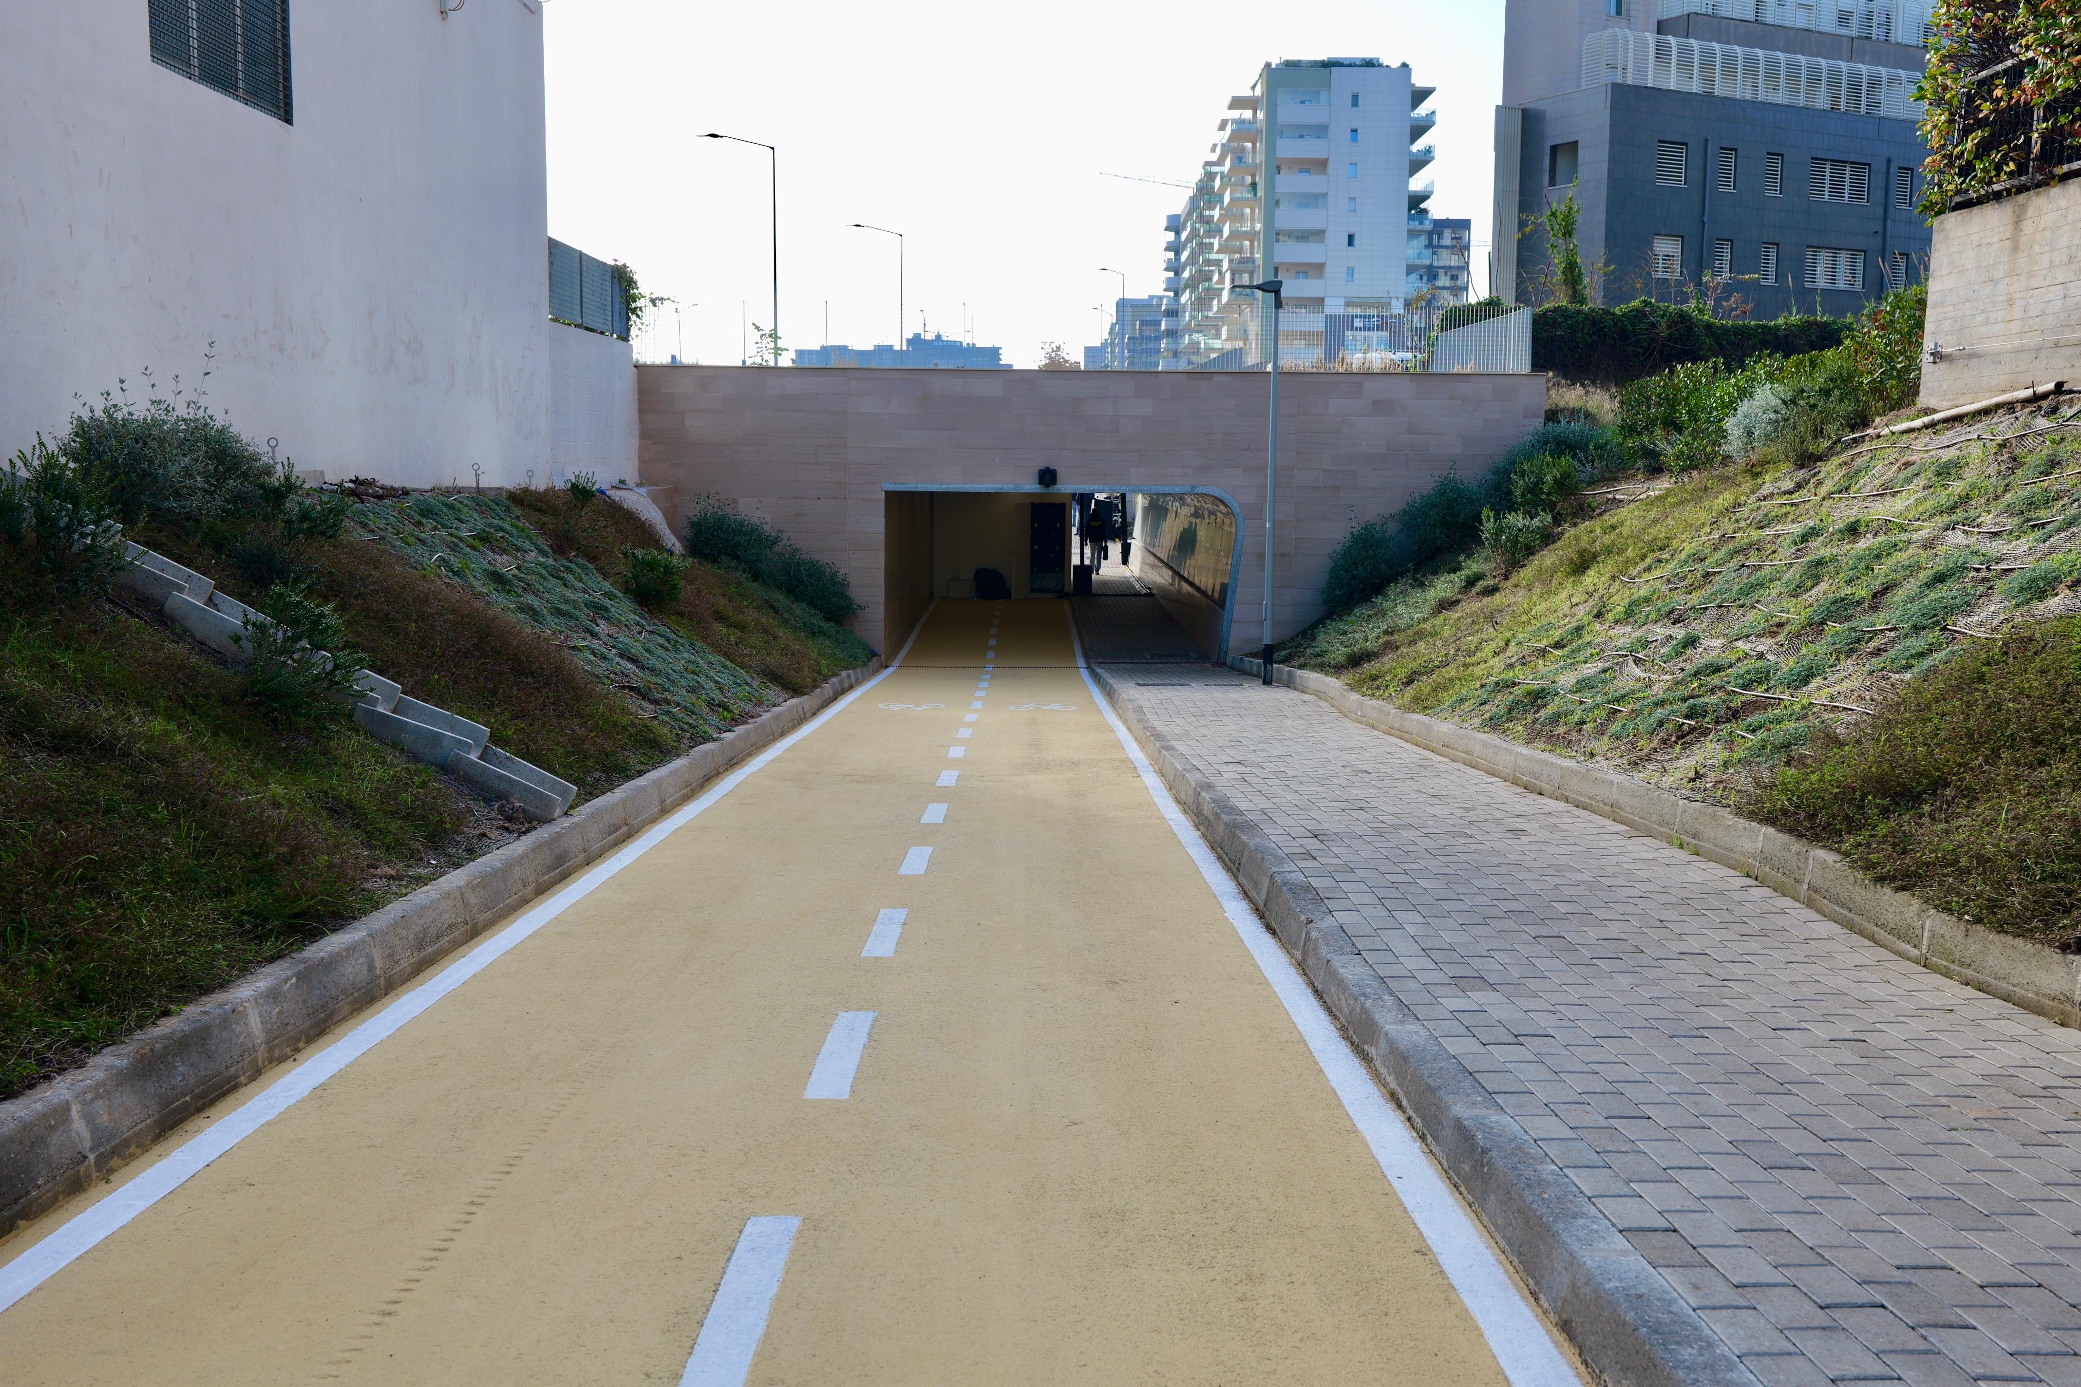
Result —
<instances>
[{"instance_id":1,"label":"large plain white building wall around the dark grated window","mask_svg":"<svg viewBox=\"0 0 2081 1387\"><path fill-rule=\"evenodd\" d=\"M293 125L154 64L146 0L0 4L0 451L208 354L298 468L547 470L539 4L304 0L289 64Z\"/></svg>"}]
</instances>

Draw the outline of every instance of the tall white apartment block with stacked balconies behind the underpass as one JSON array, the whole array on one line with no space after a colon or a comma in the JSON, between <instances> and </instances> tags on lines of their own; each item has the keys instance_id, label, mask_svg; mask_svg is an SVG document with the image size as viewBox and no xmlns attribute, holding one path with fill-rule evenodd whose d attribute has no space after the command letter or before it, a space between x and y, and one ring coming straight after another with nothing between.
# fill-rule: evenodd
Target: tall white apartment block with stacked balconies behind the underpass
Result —
<instances>
[{"instance_id":1,"label":"tall white apartment block with stacked balconies behind the underpass","mask_svg":"<svg viewBox=\"0 0 2081 1387\"><path fill-rule=\"evenodd\" d=\"M1342 326L1403 310L1432 287L1411 272L1428 245L1436 116L1409 64L1380 58L1267 62L1228 100L1172 233L1178 299L1167 368L1253 360L1261 279L1286 285L1282 356L1336 356ZM1423 143L1419 143L1423 141ZM1419 264L1417 268L1428 270Z\"/></svg>"}]
</instances>

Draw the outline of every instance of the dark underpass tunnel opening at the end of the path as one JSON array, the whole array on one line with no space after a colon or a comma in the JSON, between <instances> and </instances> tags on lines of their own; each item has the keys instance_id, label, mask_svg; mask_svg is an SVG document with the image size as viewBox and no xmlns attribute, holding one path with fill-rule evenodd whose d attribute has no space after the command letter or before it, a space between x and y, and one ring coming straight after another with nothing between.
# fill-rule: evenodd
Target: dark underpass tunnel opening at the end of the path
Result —
<instances>
[{"instance_id":1,"label":"dark underpass tunnel opening at the end of the path","mask_svg":"<svg viewBox=\"0 0 2081 1387\"><path fill-rule=\"evenodd\" d=\"M1192 489L884 489L882 649L926 609L1072 603L1095 663L1209 661L1230 645L1238 518Z\"/></svg>"}]
</instances>

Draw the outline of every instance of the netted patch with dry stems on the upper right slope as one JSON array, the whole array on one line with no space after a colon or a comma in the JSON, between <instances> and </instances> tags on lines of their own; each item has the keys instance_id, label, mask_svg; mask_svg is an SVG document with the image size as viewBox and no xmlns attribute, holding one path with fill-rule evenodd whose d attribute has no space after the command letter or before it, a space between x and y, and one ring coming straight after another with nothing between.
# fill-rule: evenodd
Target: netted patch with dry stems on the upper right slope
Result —
<instances>
[{"instance_id":1,"label":"netted patch with dry stems on the upper right slope","mask_svg":"<svg viewBox=\"0 0 2081 1387\"><path fill-rule=\"evenodd\" d=\"M1804 744L2019 616L2073 609L2081 420L1975 420L1850 449L1713 516L1600 611L1523 632L1507 670L1442 705L1569 744ZM1667 749L1665 749L1667 753Z\"/></svg>"}]
</instances>

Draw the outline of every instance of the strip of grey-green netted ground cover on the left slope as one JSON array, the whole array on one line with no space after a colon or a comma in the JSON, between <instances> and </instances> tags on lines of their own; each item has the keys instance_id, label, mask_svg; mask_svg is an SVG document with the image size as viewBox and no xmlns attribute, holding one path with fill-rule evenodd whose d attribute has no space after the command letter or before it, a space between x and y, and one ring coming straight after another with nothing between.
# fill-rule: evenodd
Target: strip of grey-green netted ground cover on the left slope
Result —
<instances>
[{"instance_id":1,"label":"strip of grey-green netted ground cover on the left slope","mask_svg":"<svg viewBox=\"0 0 2081 1387\"><path fill-rule=\"evenodd\" d=\"M416 495L354 507L364 537L535 626L689 742L787 695L653 620L585 559L558 557L504 497Z\"/></svg>"}]
</instances>

